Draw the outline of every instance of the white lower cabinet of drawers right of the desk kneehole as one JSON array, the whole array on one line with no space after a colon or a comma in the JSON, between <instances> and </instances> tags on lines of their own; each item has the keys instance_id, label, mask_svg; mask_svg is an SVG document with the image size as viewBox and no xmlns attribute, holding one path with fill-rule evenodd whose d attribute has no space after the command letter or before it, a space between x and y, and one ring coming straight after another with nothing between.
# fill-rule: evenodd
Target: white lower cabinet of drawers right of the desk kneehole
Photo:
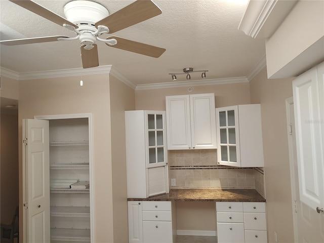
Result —
<instances>
[{"instance_id":1,"label":"white lower cabinet of drawers right of the desk kneehole","mask_svg":"<svg viewBox=\"0 0 324 243\"><path fill-rule=\"evenodd\" d=\"M265 203L217 202L219 243L266 243Z\"/></svg>"}]
</instances>

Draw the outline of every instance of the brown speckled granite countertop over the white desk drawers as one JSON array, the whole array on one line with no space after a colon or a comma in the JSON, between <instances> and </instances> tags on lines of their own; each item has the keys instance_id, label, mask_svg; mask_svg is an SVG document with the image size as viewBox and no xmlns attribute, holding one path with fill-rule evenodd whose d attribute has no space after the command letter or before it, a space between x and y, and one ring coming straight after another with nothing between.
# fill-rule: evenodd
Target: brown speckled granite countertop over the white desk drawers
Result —
<instances>
[{"instance_id":1,"label":"brown speckled granite countertop over the white desk drawers","mask_svg":"<svg viewBox=\"0 0 324 243\"><path fill-rule=\"evenodd\" d=\"M266 199L255 189L171 189L170 193L129 201L261 201Z\"/></svg>"}]
</instances>

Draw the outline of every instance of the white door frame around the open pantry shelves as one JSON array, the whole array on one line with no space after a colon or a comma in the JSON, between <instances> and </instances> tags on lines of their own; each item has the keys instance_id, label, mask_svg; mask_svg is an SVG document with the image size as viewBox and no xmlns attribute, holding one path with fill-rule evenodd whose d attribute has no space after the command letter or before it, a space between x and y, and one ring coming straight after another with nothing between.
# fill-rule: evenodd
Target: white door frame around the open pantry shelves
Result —
<instances>
[{"instance_id":1,"label":"white door frame around the open pantry shelves","mask_svg":"<svg viewBox=\"0 0 324 243\"><path fill-rule=\"evenodd\" d=\"M90 180L90 236L91 242L95 241L95 211L94 211L94 165L93 165L93 115L92 113L35 115L34 119L57 120L72 118L88 118L89 130L89 180Z\"/></svg>"}]
</instances>

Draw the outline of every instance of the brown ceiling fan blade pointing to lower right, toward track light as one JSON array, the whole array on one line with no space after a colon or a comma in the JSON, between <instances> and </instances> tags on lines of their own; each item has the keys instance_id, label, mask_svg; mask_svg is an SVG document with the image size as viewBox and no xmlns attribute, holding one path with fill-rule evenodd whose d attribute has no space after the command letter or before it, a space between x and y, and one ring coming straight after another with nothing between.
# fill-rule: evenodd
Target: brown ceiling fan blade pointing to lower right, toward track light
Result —
<instances>
[{"instance_id":1,"label":"brown ceiling fan blade pointing to lower right, toward track light","mask_svg":"<svg viewBox=\"0 0 324 243\"><path fill-rule=\"evenodd\" d=\"M129 39L124 39L124 38L120 38L120 37L116 37L116 36L109 36L107 39L116 39L116 41L117 41L117 44L114 46L109 46L106 43L106 45L109 47L114 47L114 48L122 49L125 51L129 51L129 52L135 52L135 53L142 54L142 55L149 56L149 57L157 58L157 57L161 56L166 51L166 49L164 49L164 48L154 47L154 46L130 41Z\"/></svg>"}]
</instances>

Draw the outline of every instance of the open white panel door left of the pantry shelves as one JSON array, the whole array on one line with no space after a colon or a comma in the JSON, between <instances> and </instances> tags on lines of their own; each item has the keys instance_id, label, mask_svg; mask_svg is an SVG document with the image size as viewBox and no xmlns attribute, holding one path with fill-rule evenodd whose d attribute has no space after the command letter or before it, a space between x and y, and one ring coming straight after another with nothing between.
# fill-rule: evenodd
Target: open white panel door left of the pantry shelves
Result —
<instances>
[{"instance_id":1,"label":"open white panel door left of the pantry shelves","mask_svg":"<svg viewBox=\"0 0 324 243\"><path fill-rule=\"evenodd\" d=\"M24 242L50 242L49 121L23 119Z\"/></svg>"}]
</instances>

